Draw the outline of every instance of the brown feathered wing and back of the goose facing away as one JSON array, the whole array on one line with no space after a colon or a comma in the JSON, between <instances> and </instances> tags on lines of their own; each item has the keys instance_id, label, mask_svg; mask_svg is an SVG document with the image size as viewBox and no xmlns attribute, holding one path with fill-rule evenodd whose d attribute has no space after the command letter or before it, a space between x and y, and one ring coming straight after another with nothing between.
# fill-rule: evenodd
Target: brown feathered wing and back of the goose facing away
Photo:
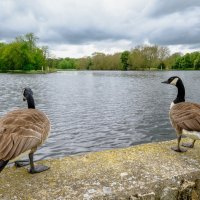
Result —
<instances>
[{"instance_id":1,"label":"brown feathered wing and back of the goose facing away","mask_svg":"<svg viewBox=\"0 0 200 200\"><path fill-rule=\"evenodd\" d=\"M50 123L37 109L9 112L0 119L0 160L11 160L41 145L50 131Z\"/></svg>"}]
</instances>

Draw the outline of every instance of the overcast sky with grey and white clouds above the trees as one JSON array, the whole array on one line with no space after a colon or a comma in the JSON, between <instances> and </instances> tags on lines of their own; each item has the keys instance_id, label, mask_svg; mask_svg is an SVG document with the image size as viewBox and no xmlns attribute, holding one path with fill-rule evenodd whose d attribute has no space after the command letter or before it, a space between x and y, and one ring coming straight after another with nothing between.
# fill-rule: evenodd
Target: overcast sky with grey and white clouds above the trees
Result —
<instances>
[{"instance_id":1,"label":"overcast sky with grey and white clouds above the trees","mask_svg":"<svg viewBox=\"0 0 200 200\"><path fill-rule=\"evenodd\" d=\"M30 32L56 57L140 44L199 51L200 0L0 0L0 41Z\"/></svg>"}]
</instances>

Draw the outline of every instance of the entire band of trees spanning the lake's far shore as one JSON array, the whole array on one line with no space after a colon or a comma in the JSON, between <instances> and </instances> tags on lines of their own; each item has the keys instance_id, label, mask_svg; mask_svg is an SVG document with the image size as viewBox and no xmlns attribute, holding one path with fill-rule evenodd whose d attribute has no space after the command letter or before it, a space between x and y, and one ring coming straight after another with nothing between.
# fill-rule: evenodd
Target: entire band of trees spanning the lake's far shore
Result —
<instances>
[{"instance_id":1,"label":"entire band of trees spanning the lake's far shore","mask_svg":"<svg viewBox=\"0 0 200 200\"><path fill-rule=\"evenodd\" d=\"M82 58L54 58L37 45L33 33L0 43L0 73L44 74L60 70L199 70L200 52L170 54L165 46L139 45L115 54L95 52Z\"/></svg>"}]
</instances>

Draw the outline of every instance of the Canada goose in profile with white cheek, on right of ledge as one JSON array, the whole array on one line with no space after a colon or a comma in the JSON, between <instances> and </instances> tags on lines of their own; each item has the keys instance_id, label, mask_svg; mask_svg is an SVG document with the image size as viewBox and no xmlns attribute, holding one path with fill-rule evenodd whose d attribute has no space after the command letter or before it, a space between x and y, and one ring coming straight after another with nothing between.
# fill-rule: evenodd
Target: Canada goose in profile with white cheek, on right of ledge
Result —
<instances>
[{"instance_id":1,"label":"Canada goose in profile with white cheek, on right of ledge","mask_svg":"<svg viewBox=\"0 0 200 200\"><path fill-rule=\"evenodd\" d=\"M178 145L172 147L174 151L185 152L180 148L182 135L185 135L193 142L191 144L182 144L185 147L194 147L196 140L200 139L200 104L185 102L185 88L182 80L178 76L170 77L162 83L171 84L178 88L178 95L171 103L169 117L173 128L176 130Z\"/></svg>"}]
</instances>

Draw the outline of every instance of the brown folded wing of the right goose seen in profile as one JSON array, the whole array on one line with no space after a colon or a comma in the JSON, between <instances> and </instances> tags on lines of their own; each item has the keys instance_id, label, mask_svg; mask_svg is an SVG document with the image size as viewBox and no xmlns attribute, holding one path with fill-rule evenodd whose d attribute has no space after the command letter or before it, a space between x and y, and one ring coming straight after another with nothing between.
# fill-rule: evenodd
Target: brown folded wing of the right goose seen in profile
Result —
<instances>
[{"instance_id":1,"label":"brown folded wing of the right goose seen in profile","mask_svg":"<svg viewBox=\"0 0 200 200\"><path fill-rule=\"evenodd\" d=\"M187 131L200 131L200 105L190 102L175 104L170 110L172 125Z\"/></svg>"}]
</instances>

